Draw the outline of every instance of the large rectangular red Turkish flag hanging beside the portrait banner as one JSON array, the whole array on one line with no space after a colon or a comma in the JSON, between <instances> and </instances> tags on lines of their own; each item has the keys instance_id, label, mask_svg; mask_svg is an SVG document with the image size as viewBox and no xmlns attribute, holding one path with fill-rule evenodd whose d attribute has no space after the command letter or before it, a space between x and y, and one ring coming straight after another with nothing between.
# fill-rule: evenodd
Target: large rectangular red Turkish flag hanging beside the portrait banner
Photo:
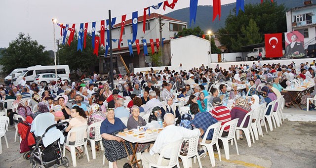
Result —
<instances>
[{"instance_id":1,"label":"large rectangular red Turkish flag hanging beside the portrait banner","mask_svg":"<svg viewBox=\"0 0 316 168\"><path fill-rule=\"evenodd\" d=\"M281 57L282 33L265 34L266 57Z\"/></svg>"}]
</instances>

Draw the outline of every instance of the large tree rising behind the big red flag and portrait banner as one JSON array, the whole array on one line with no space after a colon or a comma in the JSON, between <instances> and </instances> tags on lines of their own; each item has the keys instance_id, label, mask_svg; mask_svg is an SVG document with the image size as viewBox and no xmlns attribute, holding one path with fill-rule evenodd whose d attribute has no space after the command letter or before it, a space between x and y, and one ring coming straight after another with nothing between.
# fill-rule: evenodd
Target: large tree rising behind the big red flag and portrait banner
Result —
<instances>
[{"instance_id":1,"label":"large tree rising behind the big red flag and portrait banner","mask_svg":"<svg viewBox=\"0 0 316 168\"><path fill-rule=\"evenodd\" d=\"M239 12L237 16L234 8L225 21L225 28L218 31L219 40L230 51L244 51L241 46L263 42L264 34L286 32L285 12L283 4L270 0L246 4L245 12Z\"/></svg>"}]
</instances>

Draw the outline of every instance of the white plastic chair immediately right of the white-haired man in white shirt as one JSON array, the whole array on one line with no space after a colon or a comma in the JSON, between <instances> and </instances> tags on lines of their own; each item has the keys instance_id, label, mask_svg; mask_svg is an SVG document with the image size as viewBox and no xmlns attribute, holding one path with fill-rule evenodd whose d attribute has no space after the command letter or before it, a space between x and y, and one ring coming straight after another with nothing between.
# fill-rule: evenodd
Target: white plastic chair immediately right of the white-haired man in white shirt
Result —
<instances>
[{"instance_id":1,"label":"white plastic chair immediately right of the white-haired man in white shirt","mask_svg":"<svg viewBox=\"0 0 316 168\"><path fill-rule=\"evenodd\" d=\"M179 157L182 160L183 167L189 168L192 164L192 158L197 157L198 166L199 168L202 168L202 164L197 153L199 135L197 137L192 137L190 139L183 139L183 140L189 140L189 150L188 150L187 156L179 155Z\"/></svg>"}]
</instances>

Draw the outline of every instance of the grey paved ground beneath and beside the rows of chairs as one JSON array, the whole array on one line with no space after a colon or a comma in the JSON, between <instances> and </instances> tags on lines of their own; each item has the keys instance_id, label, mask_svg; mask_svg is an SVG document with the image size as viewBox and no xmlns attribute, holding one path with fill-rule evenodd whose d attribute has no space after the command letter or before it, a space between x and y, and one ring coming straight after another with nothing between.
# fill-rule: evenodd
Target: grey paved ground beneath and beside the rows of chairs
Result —
<instances>
[{"instance_id":1,"label":"grey paved ground beneath and beside the rows of chairs","mask_svg":"<svg viewBox=\"0 0 316 168\"><path fill-rule=\"evenodd\" d=\"M304 117L297 117L303 115ZM315 168L316 165L316 122L298 122L308 121L316 118L316 111L306 112L295 108L284 109L284 116L289 117L283 125L277 127L268 133L264 132L263 137L259 137L252 147L247 146L245 139L237 140L239 156L237 156L235 146L230 146L230 160L225 160L224 150L221 149L222 162L219 162L216 154L216 167L219 168ZM296 121L295 121L296 120ZM0 168L26 168L29 167L29 161L23 159L19 153L19 143L14 142L14 127L9 127L7 138L9 149L5 147L4 138L2 138L3 153L0 154ZM264 127L263 127L264 128ZM101 168L108 167L102 165L102 152L97 152L96 159L92 159L89 150L90 162L86 157L78 161L78 168ZM66 152L70 159L70 153ZM126 159L118 161L121 168L127 162ZM209 157L201 159L203 168L211 168ZM72 166L72 164L71 164ZM180 167L182 164L180 162ZM198 164L193 165L198 168Z\"/></svg>"}]
</instances>

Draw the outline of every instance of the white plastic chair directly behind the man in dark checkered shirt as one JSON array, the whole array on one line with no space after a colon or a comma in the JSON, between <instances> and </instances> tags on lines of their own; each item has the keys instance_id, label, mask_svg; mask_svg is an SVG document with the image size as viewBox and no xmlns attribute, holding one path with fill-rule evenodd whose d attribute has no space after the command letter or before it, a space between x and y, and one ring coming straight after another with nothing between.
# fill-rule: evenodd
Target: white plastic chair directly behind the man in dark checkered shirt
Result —
<instances>
[{"instance_id":1,"label":"white plastic chair directly behind the man in dark checkered shirt","mask_svg":"<svg viewBox=\"0 0 316 168\"><path fill-rule=\"evenodd\" d=\"M218 122L215 123L211 126L209 126L207 128L207 130L205 131L204 137L202 139L202 142L200 142L199 144L203 146L203 149L206 148L206 150L204 149L204 151L208 152L208 156L209 159L211 161L212 167L215 166L215 157L214 157L214 151L213 151L213 145L216 145L217 151L218 151L218 157L219 157L219 161L222 161L221 159L221 151L219 150L219 145L218 145L218 135L219 135L219 131L221 128L221 124L222 122ZM214 129L213 130L213 137L212 137L212 141L211 143L205 143L206 141L206 137L208 135L208 132L210 131L210 129Z\"/></svg>"}]
</instances>

